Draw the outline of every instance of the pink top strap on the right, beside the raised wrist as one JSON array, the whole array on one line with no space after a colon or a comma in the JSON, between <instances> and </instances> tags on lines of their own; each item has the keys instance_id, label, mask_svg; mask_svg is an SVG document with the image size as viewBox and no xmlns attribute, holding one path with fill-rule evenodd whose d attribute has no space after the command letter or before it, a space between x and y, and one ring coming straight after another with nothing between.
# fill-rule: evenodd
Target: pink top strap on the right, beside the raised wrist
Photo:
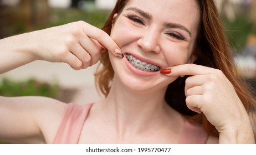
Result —
<instances>
[{"instance_id":1,"label":"pink top strap on the right, beside the raised wrist","mask_svg":"<svg viewBox=\"0 0 256 155\"><path fill-rule=\"evenodd\" d=\"M207 142L208 134L201 125L194 125L185 120L179 144L204 144Z\"/></svg>"}]
</instances>

